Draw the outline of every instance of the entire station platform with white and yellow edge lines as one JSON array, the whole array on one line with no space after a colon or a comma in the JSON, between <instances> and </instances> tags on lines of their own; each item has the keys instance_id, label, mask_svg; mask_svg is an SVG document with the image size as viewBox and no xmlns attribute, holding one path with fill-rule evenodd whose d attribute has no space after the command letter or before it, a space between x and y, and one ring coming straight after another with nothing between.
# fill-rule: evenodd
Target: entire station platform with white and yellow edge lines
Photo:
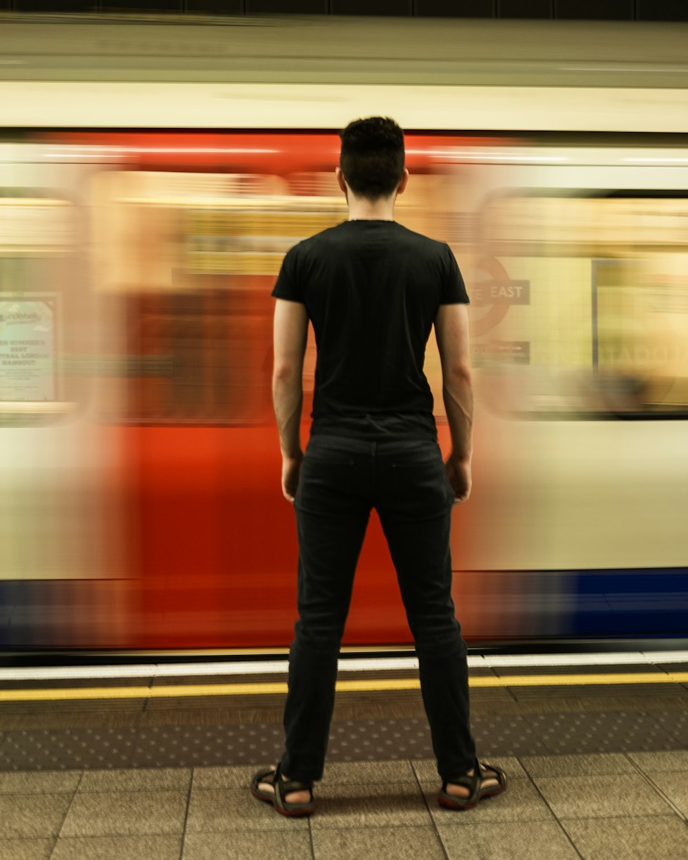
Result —
<instances>
[{"instance_id":1,"label":"entire station platform with white and yellow edge lines","mask_svg":"<svg viewBox=\"0 0 688 860\"><path fill-rule=\"evenodd\" d=\"M2 860L688 857L688 653L470 657L501 796L440 808L413 657L343 658L317 812L249 794L286 661L0 669Z\"/></svg>"}]
</instances>

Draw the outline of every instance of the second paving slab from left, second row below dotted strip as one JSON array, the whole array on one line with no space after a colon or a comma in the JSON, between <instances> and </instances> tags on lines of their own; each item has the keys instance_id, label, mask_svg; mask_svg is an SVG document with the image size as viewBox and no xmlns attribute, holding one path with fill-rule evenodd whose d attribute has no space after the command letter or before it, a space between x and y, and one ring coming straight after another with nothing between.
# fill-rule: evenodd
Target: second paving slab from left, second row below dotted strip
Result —
<instances>
[{"instance_id":1,"label":"second paving slab from left, second row below dotted strip","mask_svg":"<svg viewBox=\"0 0 688 860\"><path fill-rule=\"evenodd\" d=\"M181 833L186 808L186 791L77 793L60 836Z\"/></svg>"}]
</instances>

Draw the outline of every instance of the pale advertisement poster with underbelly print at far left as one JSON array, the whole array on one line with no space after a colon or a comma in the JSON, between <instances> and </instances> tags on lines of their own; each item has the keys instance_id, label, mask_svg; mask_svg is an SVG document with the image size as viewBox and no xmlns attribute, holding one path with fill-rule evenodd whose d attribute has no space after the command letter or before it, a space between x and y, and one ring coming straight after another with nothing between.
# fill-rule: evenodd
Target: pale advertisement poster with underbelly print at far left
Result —
<instances>
[{"instance_id":1,"label":"pale advertisement poster with underbelly print at far left","mask_svg":"<svg viewBox=\"0 0 688 860\"><path fill-rule=\"evenodd\" d=\"M0 401L54 401L57 301L0 298Z\"/></svg>"}]
</instances>

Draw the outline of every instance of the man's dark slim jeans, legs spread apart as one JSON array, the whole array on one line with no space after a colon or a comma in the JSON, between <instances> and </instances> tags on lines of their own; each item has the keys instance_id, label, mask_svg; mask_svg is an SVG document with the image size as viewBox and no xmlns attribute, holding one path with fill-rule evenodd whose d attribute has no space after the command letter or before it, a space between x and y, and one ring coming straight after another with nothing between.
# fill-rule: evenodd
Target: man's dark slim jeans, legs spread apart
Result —
<instances>
[{"instance_id":1,"label":"man's dark slim jeans, legs spread apart","mask_svg":"<svg viewBox=\"0 0 688 860\"><path fill-rule=\"evenodd\" d=\"M313 436L296 494L298 613L289 657L282 771L320 779L341 636L372 507L390 545L415 640L421 691L443 779L470 771L466 649L451 599L454 493L439 445Z\"/></svg>"}]
</instances>

